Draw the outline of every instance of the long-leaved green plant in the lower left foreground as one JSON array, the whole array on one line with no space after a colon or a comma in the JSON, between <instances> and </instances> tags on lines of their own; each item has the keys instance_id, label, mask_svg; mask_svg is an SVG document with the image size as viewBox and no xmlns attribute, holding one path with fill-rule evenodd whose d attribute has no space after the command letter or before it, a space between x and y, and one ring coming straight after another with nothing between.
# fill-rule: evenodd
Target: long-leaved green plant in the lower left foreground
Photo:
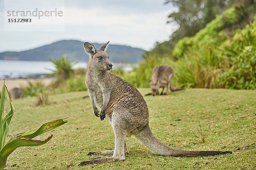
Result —
<instances>
[{"instance_id":1,"label":"long-leaved green plant in the lower left foreground","mask_svg":"<svg viewBox=\"0 0 256 170\"><path fill-rule=\"evenodd\" d=\"M4 102L7 101L9 105L9 112L4 116ZM18 133L17 135L13 136L6 144L6 137L10 131L10 122L12 116L14 114L15 108L12 103L12 100L9 96L8 90L5 86L5 81L3 81L3 88L1 93L1 100L0 100L0 169L6 167L6 160L7 157L17 148L22 146L39 146L41 144L47 143L51 138L52 135L49 136L44 141L41 140L33 140L32 138L45 133L49 130L54 129L55 127L61 126L67 123L68 118L65 119L58 119L52 122L44 123L41 127L37 127L35 129L29 130L26 133Z\"/></svg>"}]
</instances>

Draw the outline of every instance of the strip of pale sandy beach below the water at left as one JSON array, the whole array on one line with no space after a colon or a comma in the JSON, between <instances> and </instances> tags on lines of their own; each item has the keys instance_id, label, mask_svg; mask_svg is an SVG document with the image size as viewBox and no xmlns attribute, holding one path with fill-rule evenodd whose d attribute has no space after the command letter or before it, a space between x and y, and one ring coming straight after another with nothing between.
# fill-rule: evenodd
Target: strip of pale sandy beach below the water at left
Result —
<instances>
[{"instance_id":1,"label":"strip of pale sandy beach below the water at left","mask_svg":"<svg viewBox=\"0 0 256 170\"><path fill-rule=\"evenodd\" d=\"M6 87L11 90L12 88L20 88L20 86L28 85L27 81L31 82L41 82L43 85L49 85L54 78L44 78L44 79L5 79ZM0 87L3 87L3 79L0 79Z\"/></svg>"}]
</instances>

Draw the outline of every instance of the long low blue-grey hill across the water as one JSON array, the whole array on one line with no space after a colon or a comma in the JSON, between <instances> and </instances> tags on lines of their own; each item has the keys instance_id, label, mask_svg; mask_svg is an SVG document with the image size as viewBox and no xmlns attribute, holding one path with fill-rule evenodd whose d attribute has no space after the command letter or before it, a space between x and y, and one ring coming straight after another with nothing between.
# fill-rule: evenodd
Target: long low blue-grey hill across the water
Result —
<instances>
[{"instance_id":1,"label":"long low blue-grey hill across the water","mask_svg":"<svg viewBox=\"0 0 256 170\"><path fill-rule=\"evenodd\" d=\"M26 60L26 61L48 61L49 58L59 58L62 55L75 58L77 61L87 62L88 55L84 52L84 42L77 40L62 40L49 45L20 52L0 53L3 60ZM102 44L92 43L95 48L100 48ZM132 48L125 45L109 45L107 50L111 62L138 63L143 59L145 52L140 48Z\"/></svg>"}]
</instances>

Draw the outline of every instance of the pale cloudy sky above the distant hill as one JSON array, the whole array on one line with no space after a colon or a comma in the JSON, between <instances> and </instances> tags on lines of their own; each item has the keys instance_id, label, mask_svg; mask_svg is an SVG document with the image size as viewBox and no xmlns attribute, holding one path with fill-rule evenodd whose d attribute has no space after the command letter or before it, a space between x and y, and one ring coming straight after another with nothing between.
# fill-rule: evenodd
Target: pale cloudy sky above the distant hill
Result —
<instances>
[{"instance_id":1,"label":"pale cloudy sky above the distant hill","mask_svg":"<svg viewBox=\"0 0 256 170\"><path fill-rule=\"evenodd\" d=\"M58 0L63 5L52 5L54 1L31 0L38 3L36 7L39 10L51 4L51 8L56 6L64 11L63 25L58 25L58 21L53 20L50 24L53 30L60 27L61 31L30 31L32 27L28 28L29 24L26 23L12 25L16 30L19 28L23 31L8 31L5 30L7 13L4 9L11 6L13 9L23 10L22 6L29 8L32 3L20 4L24 0L9 0L5 7L5 0L0 0L0 52L28 50L58 40L98 43L110 41L110 44L149 50L156 41L168 40L172 31L177 29L175 24L166 24L168 14L175 9L171 5L164 5L164 0ZM43 21L44 18L40 20L41 28L45 27L47 30Z\"/></svg>"}]
</instances>

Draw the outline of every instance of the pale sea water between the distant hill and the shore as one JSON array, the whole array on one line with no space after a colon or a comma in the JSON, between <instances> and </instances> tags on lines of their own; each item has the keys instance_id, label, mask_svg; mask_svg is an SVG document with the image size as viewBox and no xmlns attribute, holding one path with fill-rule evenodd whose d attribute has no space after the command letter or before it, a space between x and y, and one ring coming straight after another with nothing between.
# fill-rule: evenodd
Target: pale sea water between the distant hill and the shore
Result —
<instances>
[{"instance_id":1,"label":"pale sea water between the distant hill and the shore","mask_svg":"<svg viewBox=\"0 0 256 170\"><path fill-rule=\"evenodd\" d=\"M78 62L73 68L86 68L87 62ZM113 63L113 68L132 70L131 64ZM0 60L0 79L44 78L55 67L48 61Z\"/></svg>"}]
</instances>

